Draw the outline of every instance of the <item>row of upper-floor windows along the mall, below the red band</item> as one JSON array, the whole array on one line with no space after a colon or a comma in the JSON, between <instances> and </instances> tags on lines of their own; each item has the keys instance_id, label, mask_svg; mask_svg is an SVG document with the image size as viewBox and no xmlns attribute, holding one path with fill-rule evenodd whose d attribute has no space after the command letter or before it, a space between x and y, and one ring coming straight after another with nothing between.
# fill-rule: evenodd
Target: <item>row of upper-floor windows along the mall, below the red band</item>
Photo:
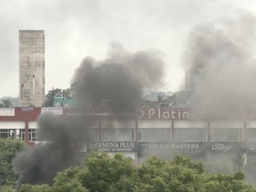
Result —
<instances>
[{"instance_id":1,"label":"row of upper-floor windows along the mall, below the red band","mask_svg":"<svg viewBox=\"0 0 256 192\"><path fill-rule=\"evenodd\" d=\"M100 140L98 129L90 130L90 138ZM173 134L173 136L172 136ZM244 135L244 137L243 137ZM211 141L256 141L256 129L243 128L214 128L210 134L206 134L204 128L177 128L172 132L170 128L139 128L138 140L150 142L164 141L205 141L210 137ZM12 138L25 140L25 129L0 129L0 138ZM244 138L244 139L243 139ZM36 141L36 129L28 130L28 141ZM41 139L40 139L41 140ZM44 140L44 139L42 139ZM132 128L110 128L101 129L101 140L105 141L128 141L135 140L135 129Z\"/></svg>"}]
</instances>

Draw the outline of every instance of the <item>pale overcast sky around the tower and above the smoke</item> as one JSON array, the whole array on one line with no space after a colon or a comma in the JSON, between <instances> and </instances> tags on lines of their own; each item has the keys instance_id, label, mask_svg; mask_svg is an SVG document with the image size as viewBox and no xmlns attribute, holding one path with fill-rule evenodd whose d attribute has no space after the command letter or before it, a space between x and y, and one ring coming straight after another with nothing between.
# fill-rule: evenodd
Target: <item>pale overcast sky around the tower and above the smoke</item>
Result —
<instances>
[{"instance_id":1,"label":"pale overcast sky around the tower and above the smoke","mask_svg":"<svg viewBox=\"0 0 256 192\"><path fill-rule=\"evenodd\" d=\"M104 60L112 43L162 52L159 89L178 91L189 32L241 12L256 15L255 0L0 0L0 97L19 96L19 30L45 31L45 93L68 88L81 61Z\"/></svg>"}]
</instances>

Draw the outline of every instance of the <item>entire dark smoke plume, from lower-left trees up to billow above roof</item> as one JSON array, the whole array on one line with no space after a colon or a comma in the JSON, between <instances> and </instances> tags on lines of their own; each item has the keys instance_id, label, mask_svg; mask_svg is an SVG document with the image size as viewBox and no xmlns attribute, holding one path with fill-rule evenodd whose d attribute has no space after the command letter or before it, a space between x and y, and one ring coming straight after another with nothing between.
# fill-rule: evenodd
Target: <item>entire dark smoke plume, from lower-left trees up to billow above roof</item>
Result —
<instances>
[{"instance_id":1,"label":"entire dark smoke plume, from lower-left trees up to billow above roof","mask_svg":"<svg viewBox=\"0 0 256 192\"><path fill-rule=\"evenodd\" d=\"M107 60L85 58L76 69L71 88L83 106L99 107L110 102L114 114L131 114L139 105L142 88L161 84L163 75L164 63L156 52L129 53L116 46ZM17 188L24 183L51 185L57 172L79 164L82 158L78 152L85 151L92 141L90 128L98 122L95 118L41 115L38 139L46 144L15 157L14 171L20 175Z\"/></svg>"}]
</instances>

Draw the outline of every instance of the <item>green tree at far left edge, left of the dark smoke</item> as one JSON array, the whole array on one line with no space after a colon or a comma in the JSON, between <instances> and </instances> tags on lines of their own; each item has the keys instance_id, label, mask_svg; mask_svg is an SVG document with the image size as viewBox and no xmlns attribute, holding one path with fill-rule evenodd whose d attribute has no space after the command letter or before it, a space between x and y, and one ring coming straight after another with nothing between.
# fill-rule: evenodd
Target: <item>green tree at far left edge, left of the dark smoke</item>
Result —
<instances>
[{"instance_id":1,"label":"green tree at far left edge, left of the dark smoke","mask_svg":"<svg viewBox=\"0 0 256 192\"><path fill-rule=\"evenodd\" d=\"M26 148L21 140L0 139L0 185L12 185L18 175L12 170L13 158Z\"/></svg>"}]
</instances>

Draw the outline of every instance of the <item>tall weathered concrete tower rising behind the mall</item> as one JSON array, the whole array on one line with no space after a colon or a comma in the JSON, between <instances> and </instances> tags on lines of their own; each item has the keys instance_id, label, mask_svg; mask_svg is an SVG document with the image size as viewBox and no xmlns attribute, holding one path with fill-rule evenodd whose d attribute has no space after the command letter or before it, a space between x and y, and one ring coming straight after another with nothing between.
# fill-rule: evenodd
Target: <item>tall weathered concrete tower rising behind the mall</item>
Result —
<instances>
[{"instance_id":1,"label":"tall weathered concrete tower rising behind the mall","mask_svg":"<svg viewBox=\"0 0 256 192\"><path fill-rule=\"evenodd\" d=\"M44 30L20 30L20 107L44 102Z\"/></svg>"}]
</instances>

